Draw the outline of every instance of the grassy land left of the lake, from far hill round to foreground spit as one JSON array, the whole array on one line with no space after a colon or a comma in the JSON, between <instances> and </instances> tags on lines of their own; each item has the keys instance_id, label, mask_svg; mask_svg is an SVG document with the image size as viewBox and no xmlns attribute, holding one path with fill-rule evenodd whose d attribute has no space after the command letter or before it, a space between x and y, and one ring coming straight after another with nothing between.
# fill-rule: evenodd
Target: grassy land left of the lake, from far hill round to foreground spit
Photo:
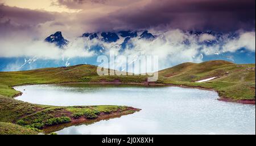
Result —
<instances>
[{"instance_id":1,"label":"grassy land left of the lake, from far hill round to foreground spit","mask_svg":"<svg viewBox=\"0 0 256 146\"><path fill-rule=\"evenodd\" d=\"M52 126L52 124L65 123L55 122L58 117L69 118L68 123L71 124L75 124L79 119L85 123L91 123L97 121L97 119L109 119L139 111L139 109L127 106L60 107L35 105L13 98L20 95L20 92L13 89L14 85L102 80L97 75L96 68L96 66L78 65L31 71L0 72L0 122L2 122L0 130L4 130L5 134L36 134L42 132L41 129L44 130L47 126ZM106 81L114 79L113 76L113 78L108 78ZM129 80L129 78L126 80ZM49 124L49 121L53 121L53 123ZM20 131L21 128L18 124L23 126L22 131ZM9 126L16 128L17 131L11 129L11 131L7 131ZM1 134L3 134L3 131L1 131Z\"/></svg>"}]
</instances>

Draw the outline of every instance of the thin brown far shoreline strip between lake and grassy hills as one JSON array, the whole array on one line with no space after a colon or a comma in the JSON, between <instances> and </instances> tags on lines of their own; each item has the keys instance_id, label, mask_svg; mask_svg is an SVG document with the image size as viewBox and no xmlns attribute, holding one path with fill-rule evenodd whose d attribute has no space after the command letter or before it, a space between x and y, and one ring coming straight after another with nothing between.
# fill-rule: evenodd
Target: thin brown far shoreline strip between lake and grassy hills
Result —
<instances>
[{"instance_id":1,"label":"thin brown far shoreline strip between lake and grassy hills","mask_svg":"<svg viewBox=\"0 0 256 146\"><path fill-rule=\"evenodd\" d=\"M176 85L176 84L164 84L164 83L155 83L155 82L148 82L148 81L144 81L141 83L137 83L137 82L129 82L129 83L125 83L125 82L121 82L120 80L116 79L114 81L105 81L105 80L101 80L101 81L92 81L92 82L63 82L63 83L43 83L43 84L22 84L22 85L47 85L47 84L114 84L114 85L143 85L144 87L157 87L157 86L162 86L162 87L180 87L180 88L194 88L194 89L202 89L202 90L207 90L207 91L215 91L218 93L218 96L220 98L217 98L218 101L224 101L224 102L236 102L239 104L250 104L250 105L255 105L255 100L234 100L232 98L227 98L227 97L221 97L220 93L212 88L204 88L204 87L200 87L200 86L188 86L188 85ZM17 86L22 86L22 85L14 85L14 87ZM22 92L19 91L20 93L16 94L13 96L13 98L21 96Z\"/></svg>"}]
</instances>

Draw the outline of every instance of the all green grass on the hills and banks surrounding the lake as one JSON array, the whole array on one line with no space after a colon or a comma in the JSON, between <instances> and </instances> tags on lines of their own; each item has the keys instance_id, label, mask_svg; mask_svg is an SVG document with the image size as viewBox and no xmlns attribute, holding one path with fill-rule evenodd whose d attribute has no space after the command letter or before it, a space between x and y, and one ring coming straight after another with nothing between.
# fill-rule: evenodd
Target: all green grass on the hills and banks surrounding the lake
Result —
<instances>
[{"instance_id":1,"label":"all green grass on the hills and banks surrounding the lake","mask_svg":"<svg viewBox=\"0 0 256 146\"><path fill-rule=\"evenodd\" d=\"M21 130L20 126L18 126L19 123L23 125L23 129L26 129L21 130L20 134L22 134L22 131L24 134L33 134L28 132L31 130L34 130L34 134L36 134L38 128L44 128L47 120L52 118L68 117L73 120L87 117L90 119L97 118L100 114L130 114L137 111L137 109L131 109L126 106L60 107L35 105L13 98L20 95L20 92L13 89L15 85L67 82L89 83L115 80L121 83L144 83L147 80L147 76L140 75L98 76L96 70L96 66L77 65L71 67L42 68L30 71L0 72L1 124L5 126L17 126L17 130ZM217 76L218 78L204 83L195 83L195 81L212 78L213 76ZM159 71L159 80L157 83L210 88L217 91L222 98L255 100L255 64L237 65L226 61L183 63ZM2 132L2 128L0 132ZM6 134L9 133L11 132L6 132ZM19 131L16 131L16 134L19 134Z\"/></svg>"}]
</instances>

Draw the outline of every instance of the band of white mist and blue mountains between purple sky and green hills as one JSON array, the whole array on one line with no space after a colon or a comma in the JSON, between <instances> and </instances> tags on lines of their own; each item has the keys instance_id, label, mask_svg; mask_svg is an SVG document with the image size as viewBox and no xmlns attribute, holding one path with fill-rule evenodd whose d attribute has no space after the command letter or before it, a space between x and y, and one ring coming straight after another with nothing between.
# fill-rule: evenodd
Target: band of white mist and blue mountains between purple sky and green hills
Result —
<instances>
[{"instance_id":1,"label":"band of white mist and blue mountains between purple sky and green hills","mask_svg":"<svg viewBox=\"0 0 256 146\"><path fill-rule=\"evenodd\" d=\"M116 55L126 57L158 55L159 69L183 62L214 59L255 63L255 32L246 31L222 33L180 29L165 32L122 30L84 32L74 40L67 40L65 34L57 31L49 34L44 40L36 40L33 43L34 46L24 45L22 55L1 56L1 71L77 64L99 65L98 55L109 55L110 50L115 51ZM18 51L17 48L14 49ZM118 65L121 66L122 62Z\"/></svg>"}]
</instances>

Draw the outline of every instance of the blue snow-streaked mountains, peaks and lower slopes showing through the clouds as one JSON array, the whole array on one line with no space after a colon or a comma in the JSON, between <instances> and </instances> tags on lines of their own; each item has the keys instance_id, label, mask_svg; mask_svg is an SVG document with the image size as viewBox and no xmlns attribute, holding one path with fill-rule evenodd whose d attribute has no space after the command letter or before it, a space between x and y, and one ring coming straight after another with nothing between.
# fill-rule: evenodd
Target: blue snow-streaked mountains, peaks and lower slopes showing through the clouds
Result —
<instances>
[{"instance_id":1,"label":"blue snow-streaked mountains, peaks and lower slopes showing through the clouds","mask_svg":"<svg viewBox=\"0 0 256 146\"><path fill-rule=\"evenodd\" d=\"M188 47L191 45L197 46L217 46L222 47L226 43L226 40L236 40L240 37L237 32L230 33L222 33L222 32L214 32L214 31L184 31L183 32L187 36L193 36L194 40L184 39L181 42L184 47ZM202 36L207 36L203 40ZM177 36L179 37L179 36ZM143 40L148 43L154 43L153 41L160 39L167 41L170 38L167 38L163 33L154 33L147 30L142 31L110 31L110 32L84 32L81 33L77 38L82 38L85 41L85 46L83 49L87 51L93 51L95 54L90 58L63 58L59 61L45 60L39 59L36 56L30 58L0 58L0 71L13 71L13 70L31 70L34 68L42 68L42 67L59 67L59 66L69 66L69 65L77 65L77 64L90 64L90 65L98 65L96 63L97 55L105 54L105 51L108 48L118 48L119 53L122 54L126 49L134 49L135 46L133 41ZM195 41L196 40L196 41ZM44 41L49 44L55 44L59 49L67 49L69 45L72 45L73 40L65 39L65 36L60 31L49 35L44 39ZM95 43L97 42L97 43ZM160 50L159 50L160 51ZM255 51L248 51L245 48L241 48L234 52L224 52L224 53L214 53L211 55L207 54L199 54L201 56L202 61L210 61L215 59L222 59L226 61L232 61L234 63L255 63ZM13 67L13 64L16 65L16 68ZM173 64L172 64L173 65ZM170 66L172 66L170 65ZM11 66L11 67L10 67ZM167 65L168 66L168 65Z\"/></svg>"}]
</instances>

